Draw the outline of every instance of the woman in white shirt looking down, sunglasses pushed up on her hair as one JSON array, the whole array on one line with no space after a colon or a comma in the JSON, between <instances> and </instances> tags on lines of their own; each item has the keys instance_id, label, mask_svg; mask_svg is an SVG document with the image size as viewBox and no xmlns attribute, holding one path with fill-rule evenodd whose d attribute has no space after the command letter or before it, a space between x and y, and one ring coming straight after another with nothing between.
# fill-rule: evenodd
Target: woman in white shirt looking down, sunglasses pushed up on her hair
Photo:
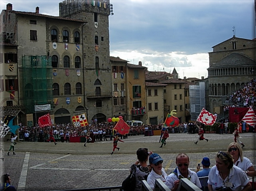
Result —
<instances>
[{"instance_id":1,"label":"woman in white shirt looking down, sunglasses pushed up on her hair","mask_svg":"<svg viewBox=\"0 0 256 191\"><path fill-rule=\"evenodd\" d=\"M218 152L215 156L216 165L209 173L209 191L226 187L227 190L250 191L249 178L243 170L233 165L233 158L229 152Z\"/></svg>"}]
</instances>

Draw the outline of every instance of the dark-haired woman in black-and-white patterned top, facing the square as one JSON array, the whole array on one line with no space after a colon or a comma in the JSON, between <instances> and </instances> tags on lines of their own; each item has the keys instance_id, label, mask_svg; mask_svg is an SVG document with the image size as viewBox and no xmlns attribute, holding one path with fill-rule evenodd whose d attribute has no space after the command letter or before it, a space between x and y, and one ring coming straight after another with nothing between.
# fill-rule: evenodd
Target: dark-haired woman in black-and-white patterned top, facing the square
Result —
<instances>
[{"instance_id":1,"label":"dark-haired woman in black-and-white patterned top, facing the square","mask_svg":"<svg viewBox=\"0 0 256 191\"><path fill-rule=\"evenodd\" d=\"M130 171L133 170L133 175L136 179L135 191L141 191L142 180L147 180L151 171L151 168L149 168L150 165L147 165L147 161L152 152L148 152L147 148L139 148L136 154L138 160L131 166Z\"/></svg>"}]
</instances>

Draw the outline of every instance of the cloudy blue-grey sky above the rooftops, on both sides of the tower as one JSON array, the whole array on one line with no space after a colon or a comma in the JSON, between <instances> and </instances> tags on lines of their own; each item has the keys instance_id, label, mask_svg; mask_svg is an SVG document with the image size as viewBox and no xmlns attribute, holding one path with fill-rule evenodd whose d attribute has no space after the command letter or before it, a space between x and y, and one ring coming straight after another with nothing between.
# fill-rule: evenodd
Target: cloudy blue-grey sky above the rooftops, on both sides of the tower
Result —
<instances>
[{"instance_id":1,"label":"cloudy blue-grey sky above the rooftops, on both sides of the tower","mask_svg":"<svg viewBox=\"0 0 256 191\"><path fill-rule=\"evenodd\" d=\"M83 1L83 0L81 0ZM26 2L26 3L24 3ZM1 0L17 11L58 16L59 0ZM119 56L150 71L179 77L207 77L208 52L235 35L255 38L254 0L110 0L110 56Z\"/></svg>"}]
</instances>

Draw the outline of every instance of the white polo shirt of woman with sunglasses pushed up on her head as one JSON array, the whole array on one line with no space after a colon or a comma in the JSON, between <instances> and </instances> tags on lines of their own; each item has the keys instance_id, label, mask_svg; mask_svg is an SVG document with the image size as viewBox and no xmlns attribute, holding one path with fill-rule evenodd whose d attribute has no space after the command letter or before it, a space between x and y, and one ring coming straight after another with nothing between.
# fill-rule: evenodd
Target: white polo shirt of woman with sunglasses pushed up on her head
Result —
<instances>
[{"instance_id":1,"label":"white polo shirt of woman with sunglasses pushed up on her head","mask_svg":"<svg viewBox=\"0 0 256 191\"><path fill-rule=\"evenodd\" d=\"M248 182L249 178L245 172L235 165L230 169L229 176L224 180L225 186L230 187L231 190L234 191L240 191L242 187L245 187L248 184ZM216 190L216 187L223 186L222 178L216 166L211 168L207 183L212 185L213 191Z\"/></svg>"}]
</instances>

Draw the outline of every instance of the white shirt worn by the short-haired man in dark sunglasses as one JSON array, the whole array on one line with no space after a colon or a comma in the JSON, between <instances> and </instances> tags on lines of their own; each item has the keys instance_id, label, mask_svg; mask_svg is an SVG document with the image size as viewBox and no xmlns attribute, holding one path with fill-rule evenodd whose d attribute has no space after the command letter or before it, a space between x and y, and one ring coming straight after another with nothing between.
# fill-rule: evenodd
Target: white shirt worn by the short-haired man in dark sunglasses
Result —
<instances>
[{"instance_id":1,"label":"white shirt worn by the short-haired man in dark sunglasses","mask_svg":"<svg viewBox=\"0 0 256 191\"><path fill-rule=\"evenodd\" d=\"M180 171L178 171L178 177L181 176L182 178L185 178L181 175ZM170 175L168 175L165 179L165 185L170 188L170 190L174 187L174 182L175 180L179 180L179 178L177 177L176 174L171 173ZM190 169L188 169L188 179L195 184L197 187L201 188L201 184L199 181L199 178L197 176L197 174L194 171L191 171Z\"/></svg>"}]
</instances>

